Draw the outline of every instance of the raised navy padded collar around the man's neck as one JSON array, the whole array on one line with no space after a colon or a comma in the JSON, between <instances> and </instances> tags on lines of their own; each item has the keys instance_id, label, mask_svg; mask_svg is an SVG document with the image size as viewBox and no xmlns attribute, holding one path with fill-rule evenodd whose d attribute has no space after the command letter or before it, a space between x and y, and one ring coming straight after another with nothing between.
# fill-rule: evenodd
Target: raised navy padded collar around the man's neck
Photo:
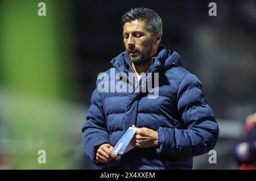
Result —
<instances>
[{"instance_id":1,"label":"raised navy padded collar around the man's neck","mask_svg":"<svg viewBox=\"0 0 256 181\"><path fill-rule=\"evenodd\" d=\"M166 69L170 69L172 66L183 66L183 62L179 56L179 54L175 51L167 50L166 47L160 45L158 48L158 54L154 59L154 63L151 66L150 72L158 72ZM128 71L130 66L127 65L127 62L131 60L127 52L120 53L117 57L113 58L110 63L114 66L118 71Z\"/></svg>"}]
</instances>

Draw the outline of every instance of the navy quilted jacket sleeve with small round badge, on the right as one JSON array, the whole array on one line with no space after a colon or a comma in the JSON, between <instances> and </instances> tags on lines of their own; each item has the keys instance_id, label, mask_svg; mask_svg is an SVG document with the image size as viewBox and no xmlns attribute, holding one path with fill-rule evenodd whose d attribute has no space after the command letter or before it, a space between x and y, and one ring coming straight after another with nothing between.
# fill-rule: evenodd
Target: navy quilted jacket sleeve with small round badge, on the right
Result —
<instances>
[{"instance_id":1,"label":"navy quilted jacket sleeve with small round badge, on the right","mask_svg":"<svg viewBox=\"0 0 256 181\"><path fill-rule=\"evenodd\" d=\"M218 124L202 90L201 82L188 73L177 91L177 110L184 129L158 128L157 153L188 159L207 153L218 140Z\"/></svg>"}]
</instances>

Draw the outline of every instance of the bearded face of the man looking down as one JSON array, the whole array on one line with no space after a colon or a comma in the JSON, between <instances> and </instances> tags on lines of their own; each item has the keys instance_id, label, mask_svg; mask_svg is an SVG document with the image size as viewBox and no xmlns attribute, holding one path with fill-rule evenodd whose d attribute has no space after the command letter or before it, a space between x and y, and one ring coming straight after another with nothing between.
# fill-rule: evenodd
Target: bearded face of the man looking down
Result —
<instances>
[{"instance_id":1,"label":"bearded face of the man looking down","mask_svg":"<svg viewBox=\"0 0 256 181\"><path fill-rule=\"evenodd\" d=\"M142 64L154 55L154 37L146 30L144 21L134 20L125 23L123 43L134 64Z\"/></svg>"}]
</instances>

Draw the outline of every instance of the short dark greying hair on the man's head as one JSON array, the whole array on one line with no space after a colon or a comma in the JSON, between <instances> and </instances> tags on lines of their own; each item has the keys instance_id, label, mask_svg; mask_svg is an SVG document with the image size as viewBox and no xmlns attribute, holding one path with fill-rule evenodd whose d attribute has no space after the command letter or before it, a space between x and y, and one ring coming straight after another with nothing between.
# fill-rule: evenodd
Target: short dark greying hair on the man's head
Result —
<instances>
[{"instance_id":1,"label":"short dark greying hair on the man's head","mask_svg":"<svg viewBox=\"0 0 256 181\"><path fill-rule=\"evenodd\" d=\"M127 11L121 18L122 26L127 22L134 20L144 20L146 22L146 29L151 35L156 35L158 32L163 33L162 19L155 11L148 8L135 8Z\"/></svg>"}]
</instances>

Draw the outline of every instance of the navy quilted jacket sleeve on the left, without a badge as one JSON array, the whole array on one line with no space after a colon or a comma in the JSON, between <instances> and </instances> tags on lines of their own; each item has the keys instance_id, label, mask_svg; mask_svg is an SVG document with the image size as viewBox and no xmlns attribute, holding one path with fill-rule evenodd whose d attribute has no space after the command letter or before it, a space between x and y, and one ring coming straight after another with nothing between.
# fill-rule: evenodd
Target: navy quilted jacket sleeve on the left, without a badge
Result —
<instances>
[{"instance_id":1,"label":"navy quilted jacket sleeve on the left, without a badge","mask_svg":"<svg viewBox=\"0 0 256 181\"><path fill-rule=\"evenodd\" d=\"M97 83L96 83L97 85ZM106 118L102 106L101 93L97 88L93 91L91 98L92 105L82 125L82 144L85 153L97 166L104 166L105 163L96 160L96 152L100 145L109 143L109 133L106 128Z\"/></svg>"}]
</instances>

